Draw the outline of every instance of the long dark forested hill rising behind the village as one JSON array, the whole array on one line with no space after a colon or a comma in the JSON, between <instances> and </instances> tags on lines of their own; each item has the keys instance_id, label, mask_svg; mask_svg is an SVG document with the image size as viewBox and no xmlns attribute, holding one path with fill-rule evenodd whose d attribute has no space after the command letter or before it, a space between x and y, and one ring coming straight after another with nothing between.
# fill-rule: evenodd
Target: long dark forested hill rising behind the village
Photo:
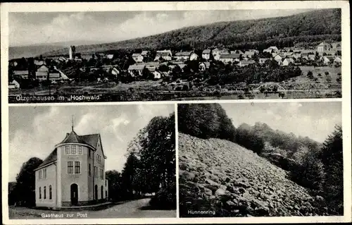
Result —
<instances>
[{"instance_id":1,"label":"long dark forested hill rising behind the village","mask_svg":"<svg viewBox=\"0 0 352 225\"><path fill-rule=\"evenodd\" d=\"M193 26L122 42L82 45L76 49L77 52L164 48L187 50L225 46L261 50L270 45L315 45L322 40L341 40L341 9L322 9L294 16ZM59 54L67 54L67 49L49 51L45 56Z\"/></svg>"}]
</instances>

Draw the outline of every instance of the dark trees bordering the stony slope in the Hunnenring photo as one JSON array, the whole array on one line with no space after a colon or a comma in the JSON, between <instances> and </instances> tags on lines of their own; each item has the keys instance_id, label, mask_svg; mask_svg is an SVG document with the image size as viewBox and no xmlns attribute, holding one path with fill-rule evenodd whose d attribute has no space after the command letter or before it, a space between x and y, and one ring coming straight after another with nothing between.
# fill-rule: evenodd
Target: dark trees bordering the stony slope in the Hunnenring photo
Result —
<instances>
[{"instance_id":1,"label":"dark trees bordering the stony slope in the Hunnenring photo","mask_svg":"<svg viewBox=\"0 0 352 225\"><path fill-rule=\"evenodd\" d=\"M308 137L273 130L265 123L244 123L235 128L220 104L179 104L177 110L181 133L236 142L287 170L288 178L307 188L311 195L321 199L324 196L328 214L343 213L341 126L336 126L321 144Z\"/></svg>"}]
</instances>

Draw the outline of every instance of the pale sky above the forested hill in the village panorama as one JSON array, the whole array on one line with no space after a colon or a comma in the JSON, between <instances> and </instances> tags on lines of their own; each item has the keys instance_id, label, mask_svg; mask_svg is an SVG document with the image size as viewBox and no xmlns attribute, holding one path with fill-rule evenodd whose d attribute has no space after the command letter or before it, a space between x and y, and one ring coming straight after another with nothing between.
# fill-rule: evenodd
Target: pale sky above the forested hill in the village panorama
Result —
<instances>
[{"instance_id":1,"label":"pale sky above the forested hill in the village panorama","mask_svg":"<svg viewBox=\"0 0 352 225\"><path fill-rule=\"evenodd\" d=\"M312 10L12 12L8 14L9 45L118 42L193 25L290 16Z\"/></svg>"}]
</instances>

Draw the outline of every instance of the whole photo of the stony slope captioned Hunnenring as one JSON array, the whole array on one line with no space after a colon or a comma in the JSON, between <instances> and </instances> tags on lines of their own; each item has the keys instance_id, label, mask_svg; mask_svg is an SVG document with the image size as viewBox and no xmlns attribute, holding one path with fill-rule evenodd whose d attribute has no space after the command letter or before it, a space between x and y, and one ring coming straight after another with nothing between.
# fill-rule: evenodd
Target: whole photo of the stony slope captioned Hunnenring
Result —
<instances>
[{"instance_id":1,"label":"whole photo of the stony slope captioned Hunnenring","mask_svg":"<svg viewBox=\"0 0 352 225\"><path fill-rule=\"evenodd\" d=\"M344 215L341 102L178 104L180 217Z\"/></svg>"}]
</instances>

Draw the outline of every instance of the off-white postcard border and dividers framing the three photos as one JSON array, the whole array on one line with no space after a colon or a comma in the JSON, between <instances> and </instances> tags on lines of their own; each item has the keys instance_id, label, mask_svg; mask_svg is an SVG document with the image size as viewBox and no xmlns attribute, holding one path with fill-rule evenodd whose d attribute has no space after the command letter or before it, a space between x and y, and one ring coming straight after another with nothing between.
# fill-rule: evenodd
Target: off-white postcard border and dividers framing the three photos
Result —
<instances>
[{"instance_id":1,"label":"off-white postcard border and dividers framing the three photos","mask_svg":"<svg viewBox=\"0 0 352 225\"><path fill-rule=\"evenodd\" d=\"M16 3L1 4L1 123L2 132L2 193L3 193L3 223L4 224L184 224L184 223L300 223L300 222L347 222L351 221L351 52L349 30L349 4L348 1L251 1L251 2L119 2L119 3ZM230 10L230 9L290 9L290 8L341 8L342 27L342 57L343 83L342 99L241 99L241 100L204 100L202 103L213 102L342 102L343 138L344 138L344 216L341 217L251 217L251 218L151 218L151 219L8 219L8 107L25 107L27 104L8 104L8 12L24 11L175 11L175 10ZM197 101L178 102L96 102L75 103L75 105L109 105L109 104L175 104L175 128L177 129L177 103L195 103ZM31 106L47 105L73 105L71 103L41 103ZM177 137L177 134L176 134ZM177 153L176 138L176 156ZM178 158L177 174L178 174ZM178 177L177 177L177 203L178 203ZM177 217L178 217L177 204Z\"/></svg>"}]
</instances>

